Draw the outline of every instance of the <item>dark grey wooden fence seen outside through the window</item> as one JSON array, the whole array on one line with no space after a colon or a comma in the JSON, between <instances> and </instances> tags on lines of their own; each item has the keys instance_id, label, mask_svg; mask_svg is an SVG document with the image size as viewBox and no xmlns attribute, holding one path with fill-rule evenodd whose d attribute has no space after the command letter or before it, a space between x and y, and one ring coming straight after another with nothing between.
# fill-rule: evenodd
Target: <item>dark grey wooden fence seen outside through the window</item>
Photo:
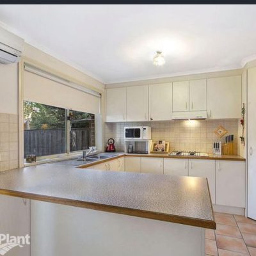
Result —
<instances>
[{"instance_id":1,"label":"dark grey wooden fence seen outside through the window","mask_svg":"<svg viewBox=\"0 0 256 256\"><path fill-rule=\"evenodd\" d=\"M65 129L39 129L24 131L24 157L29 154L50 156L67 152ZM88 148L88 128L74 128L70 133L70 151Z\"/></svg>"}]
</instances>

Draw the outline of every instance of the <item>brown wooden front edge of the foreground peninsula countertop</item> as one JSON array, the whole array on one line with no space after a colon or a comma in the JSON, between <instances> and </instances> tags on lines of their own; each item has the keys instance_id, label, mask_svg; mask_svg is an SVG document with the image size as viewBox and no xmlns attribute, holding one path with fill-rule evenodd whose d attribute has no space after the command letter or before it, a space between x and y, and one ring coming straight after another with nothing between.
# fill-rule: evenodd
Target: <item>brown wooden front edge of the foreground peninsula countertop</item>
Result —
<instances>
[{"instance_id":1,"label":"brown wooden front edge of the foreground peninsula countertop","mask_svg":"<svg viewBox=\"0 0 256 256\"><path fill-rule=\"evenodd\" d=\"M37 195L33 193L25 193L19 191L12 191L8 189L0 189L1 195L16 196L20 198L26 198L31 200L38 200L44 202L50 202L54 204L70 205L75 207L93 209L97 211L112 212L116 214L125 214L129 216L136 216L140 218L148 218L152 220L167 221L172 223L179 223L183 225L190 225L194 227L216 229L216 222L210 220L200 220L196 218L189 218L185 216L168 215L159 212L149 212L139 209L129 209L126 207L118 207L113 205L96 204L92 202L83 202L79 200L58 198L54 196Z\"/></svg>"}]
</instances>

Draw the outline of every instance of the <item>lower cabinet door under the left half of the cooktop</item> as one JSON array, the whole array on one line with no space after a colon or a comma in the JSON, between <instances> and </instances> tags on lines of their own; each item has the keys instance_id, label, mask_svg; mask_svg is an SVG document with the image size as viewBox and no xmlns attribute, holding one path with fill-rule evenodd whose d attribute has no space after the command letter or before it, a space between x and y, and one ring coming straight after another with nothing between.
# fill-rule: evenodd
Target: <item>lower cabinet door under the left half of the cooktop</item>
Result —
<instances>
[{"instance_id":1,"label":"lower cabinet door under the left half of the cooktop","mask_svg":"<svg viewBox=\"0 0 256 256\"><path fill-rule=\"evenodd\" d=\"M164 174L188 176L188 159L164 158Z\"/></svg>"}]
</instances>

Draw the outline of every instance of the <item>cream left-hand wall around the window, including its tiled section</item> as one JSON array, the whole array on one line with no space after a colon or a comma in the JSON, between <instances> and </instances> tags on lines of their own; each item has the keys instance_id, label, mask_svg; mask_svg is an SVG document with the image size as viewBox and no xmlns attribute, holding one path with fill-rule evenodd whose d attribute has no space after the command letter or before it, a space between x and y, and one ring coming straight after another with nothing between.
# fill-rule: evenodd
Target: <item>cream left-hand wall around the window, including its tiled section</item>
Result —
<instances>
[{"instance_id":1,"label":"cream left-hand wall around the window, including its tiled section","mask_svg":"<svg viewBox=\"0 0 256 256\"><path fill-rule=\"evenodd\" d=\"M29 44L24 45L23 58L45 68L45 70L54 70L60 76L66 77L74 83L79 83L87 88L101 92L103 95L102 106L104 106L104 84L93 79L93 77L70 67ZM18 88L18 65L0 64L0 171L18 167ZM104 113L104 109L102 111Z\"/></svg>"}]
</instances>

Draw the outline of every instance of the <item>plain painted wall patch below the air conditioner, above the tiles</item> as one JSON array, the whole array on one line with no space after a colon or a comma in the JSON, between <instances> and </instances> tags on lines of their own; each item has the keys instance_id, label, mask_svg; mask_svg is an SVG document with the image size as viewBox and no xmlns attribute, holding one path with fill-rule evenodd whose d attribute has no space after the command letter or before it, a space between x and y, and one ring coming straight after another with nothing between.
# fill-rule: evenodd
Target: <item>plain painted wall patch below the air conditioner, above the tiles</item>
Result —
<instances>
[{"instance_id":1,"label":"plain painted wall patch below the air conditioner, above the tiles","mask_svg":"<svg viewBox=\"0 0 256 256\"><path fill-rule=\"evenodd\" d=\"M18 113L17 64L0 64L0 113Z\"/></svg>"}]
</instances>

